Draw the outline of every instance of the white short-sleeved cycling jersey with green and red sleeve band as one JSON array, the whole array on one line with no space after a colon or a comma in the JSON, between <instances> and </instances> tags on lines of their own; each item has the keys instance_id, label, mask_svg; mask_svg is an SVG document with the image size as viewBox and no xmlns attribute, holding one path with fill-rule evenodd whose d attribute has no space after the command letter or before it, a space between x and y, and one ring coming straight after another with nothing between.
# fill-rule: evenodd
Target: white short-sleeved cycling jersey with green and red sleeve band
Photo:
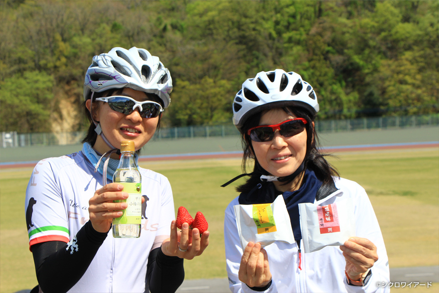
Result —
<instances>
[{"instance_id":1,"label":"white short-sleeved cycling jersey with green and red sleeve band","mask_svg":"<svg viewBox=\"0 0 439 293\"><path fill-rule=\"evenodd\" d=\"M167 178L139 168L142 178L140 238L114 238L110 231L87 271L68 292L144 292L149 252L169 237L175 219L174 200ZM63 241L75 253L74 238L89 220L88 201L102 188L102 175L82 152L41 160L26 190L29 246ZM68 274L69 272L65 272Z\"/></svg>"}]
</instances>

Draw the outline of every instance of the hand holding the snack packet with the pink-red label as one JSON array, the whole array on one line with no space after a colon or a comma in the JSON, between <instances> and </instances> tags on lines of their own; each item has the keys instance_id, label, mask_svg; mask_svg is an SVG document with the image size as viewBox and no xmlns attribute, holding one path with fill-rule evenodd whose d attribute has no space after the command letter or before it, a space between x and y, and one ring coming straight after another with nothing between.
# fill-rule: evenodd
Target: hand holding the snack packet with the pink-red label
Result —
<instances>
[{"instance_id":1,"label":"hand holding the snack packet with the pink-red label","mask_svg":"<svg viewBox=\"0 0 439 293\"><path fill-rule=\"evenodd\" d=\"M352 280L359 280L378 260L377 247L366 238L351 237L340 250L346 259L346 273Z\"/></svg>"}]
</instances>

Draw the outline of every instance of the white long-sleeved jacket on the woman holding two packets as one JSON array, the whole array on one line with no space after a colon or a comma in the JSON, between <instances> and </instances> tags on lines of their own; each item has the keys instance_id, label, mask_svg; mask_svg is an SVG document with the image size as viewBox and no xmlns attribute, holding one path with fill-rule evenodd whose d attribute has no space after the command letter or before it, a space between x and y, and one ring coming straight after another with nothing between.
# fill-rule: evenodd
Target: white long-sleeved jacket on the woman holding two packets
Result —
<instances>
[{"instance_id":1,"label":"white long-sleeved jacket on the woman holding two packets","mask_svg":"<svg viewBox=\"0 0 439 293\"><path fill-rule=\"evenodd\" d=\"M348 285L345 276L346 261L339 246L327 246L319 251L301 252L296 243L287 244L275 241L264 249L273 282L265 292L268 293L329 293L329 292L389 292L389 287L381 287L382 282L389 283L389 263L379 224L369 197L364 188L347 179L335 179L339 189L320 201L318 205L329 205L352 198L356 221L356 235L372 241L377 247L379 260L372 267L372 276L364 287ZM224 240L227 274L232 292L255 292L239 281L239 264L242 257L241 243L236 225L233 207L239 205L239 197L227 207L224 219ZM301 240L301 247L303 242ZM300 264L300 268L299 268ZM377 285L378 284L378 285Z\"/></svg>"}]
</instances>

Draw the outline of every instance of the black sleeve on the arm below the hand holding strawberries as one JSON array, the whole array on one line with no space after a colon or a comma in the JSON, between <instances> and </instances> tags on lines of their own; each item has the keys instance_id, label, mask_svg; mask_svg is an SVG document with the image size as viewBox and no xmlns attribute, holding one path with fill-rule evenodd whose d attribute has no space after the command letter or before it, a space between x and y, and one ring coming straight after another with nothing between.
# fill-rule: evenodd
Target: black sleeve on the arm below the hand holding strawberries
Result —
<instances>
[{"instance_id":1,"label":"black sleeve on the arm below the hand holding strawberries","mask_svg":"<svg viewBox=\"0 0 439 293\"><path fill-rule=\"evenodd\" d=\"M183 259L167 256L161 248L149 253L145 292L174 293L184 280Z\"/></svg>"}]
</instances>

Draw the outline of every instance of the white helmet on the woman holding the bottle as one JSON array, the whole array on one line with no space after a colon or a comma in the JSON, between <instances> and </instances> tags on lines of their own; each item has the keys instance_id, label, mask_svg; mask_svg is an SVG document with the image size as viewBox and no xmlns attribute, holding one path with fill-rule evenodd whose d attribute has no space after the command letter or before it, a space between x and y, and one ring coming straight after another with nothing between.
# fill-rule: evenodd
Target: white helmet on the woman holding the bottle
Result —
<instances>
[{"instance_id":1,"label":"white helmet on the woman holding the bottle","mask_svg":"<svg viewBox=\"0 0 439 293\"><path fill-rule=\"evenodd\" d=\"M93 57L85 74L84 100L90 99L92 92L122 87L156 94L163 101L164 108L171 102L172 79L169 70L159 57L152 56L145 49L116 47Z\"/></svg>"}]
</instances>

